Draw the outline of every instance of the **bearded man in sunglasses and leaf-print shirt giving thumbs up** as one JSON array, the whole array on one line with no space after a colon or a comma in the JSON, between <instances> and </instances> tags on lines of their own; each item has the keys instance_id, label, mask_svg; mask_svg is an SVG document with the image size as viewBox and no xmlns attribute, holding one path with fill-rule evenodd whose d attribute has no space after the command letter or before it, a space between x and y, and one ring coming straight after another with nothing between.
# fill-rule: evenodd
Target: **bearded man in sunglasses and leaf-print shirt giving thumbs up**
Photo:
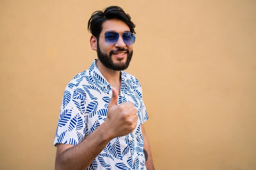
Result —
<instances>
[{"instance_id":1,"label":"bearded man in sunglasses and leaf-print shirt giving thumbs up","mask_svg":"<svg viewBox=\"0 0 256 170\"><path fill-rule=\"evenodd\" d=\"M123 9L96 11L88 22L98 59L63 94L54 145L56 170L153 170L143 123L141 85L125 70L135 24Z\"/></svg>"}]
</instances>

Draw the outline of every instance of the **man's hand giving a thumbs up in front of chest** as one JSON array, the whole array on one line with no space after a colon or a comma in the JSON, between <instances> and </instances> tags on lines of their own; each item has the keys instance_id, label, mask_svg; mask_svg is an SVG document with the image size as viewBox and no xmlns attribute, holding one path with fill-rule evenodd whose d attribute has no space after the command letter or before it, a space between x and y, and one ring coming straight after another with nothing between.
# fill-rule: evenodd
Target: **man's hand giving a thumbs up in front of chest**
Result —
<instances>
[{"instance_id":1,"label":"man's hand giving a thumbs up in front of chest","mask_svg":"<svg viewBox=\"0 0 256 170\"><path fill-rule=\"evenodd\" d=\"M131 102L118 105L118 92L112 88L112 97L108 104L108 115L104 122L110 138L127 135L137 126L137 109Z\"/></svg>"}]
</instances>

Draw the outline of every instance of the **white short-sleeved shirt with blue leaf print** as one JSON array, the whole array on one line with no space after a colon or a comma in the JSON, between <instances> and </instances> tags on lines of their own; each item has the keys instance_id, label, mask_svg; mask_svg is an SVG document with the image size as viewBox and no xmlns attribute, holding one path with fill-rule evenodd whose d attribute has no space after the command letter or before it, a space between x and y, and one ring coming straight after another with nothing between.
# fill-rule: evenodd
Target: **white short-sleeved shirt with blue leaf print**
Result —
<instances>
[{"instance_id":1,"label":"white short-sleeved shirt with blue leaf print","mask_svg":"<svg viewBox=\"0 0 256 170\"><path fill-rule=\"evenodd\" d=\"M96 61L96 60L95 60ZM96 62L77 74L63 94L54 145L76 145L88 137L105 120L112 86L106 81ZM124 71L118 104L132 102L137 109L137 127L128 135L112 139L94 159L88 170L146 170L141 124L148 120L137 78Z\"/></svg>"}]
</instances>

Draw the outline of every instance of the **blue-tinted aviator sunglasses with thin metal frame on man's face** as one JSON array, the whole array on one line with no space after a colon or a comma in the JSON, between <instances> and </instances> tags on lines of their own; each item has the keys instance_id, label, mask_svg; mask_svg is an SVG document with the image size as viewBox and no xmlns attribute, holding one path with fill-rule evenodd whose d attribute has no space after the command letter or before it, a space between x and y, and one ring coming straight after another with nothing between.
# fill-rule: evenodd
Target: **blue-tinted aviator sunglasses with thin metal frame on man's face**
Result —
<instances>
[{"instance_id":1,"label":"blue-tinted aviator sunglasses with thin metal frame on man's face","mask_svg":"<svg viewBox=\"0 0 256 170\"><path fill-rule=\"evenodd\" d=\"M131 46L135 43L135 34L134 33L117 33L117 32L106 32L104 35L100 35L105 37L105 41L108 45L114 45L117 43L119 34L121 34L124 44L127 46Z\"/></svg>"}]
</instances>

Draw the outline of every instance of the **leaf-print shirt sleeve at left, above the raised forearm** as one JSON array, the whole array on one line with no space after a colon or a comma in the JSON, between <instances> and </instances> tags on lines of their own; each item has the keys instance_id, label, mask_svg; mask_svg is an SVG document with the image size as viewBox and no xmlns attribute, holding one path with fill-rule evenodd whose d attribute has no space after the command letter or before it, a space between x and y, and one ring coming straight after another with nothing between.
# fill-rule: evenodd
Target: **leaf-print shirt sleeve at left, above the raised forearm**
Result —
<instances>
[{"instance_id":1,"label":"leaf-print shirt sleeve at left, above the raised forearm","mask_svg":"<svg viewBox=\"0 0 256 170\"><path fill-rule=\"evenodd\" d=\"M68 86L63 94L61 111L58 119L54 145L76 145L85 136L85 94L81 89L71 89Z\"/></svg>"}]
</instances>

